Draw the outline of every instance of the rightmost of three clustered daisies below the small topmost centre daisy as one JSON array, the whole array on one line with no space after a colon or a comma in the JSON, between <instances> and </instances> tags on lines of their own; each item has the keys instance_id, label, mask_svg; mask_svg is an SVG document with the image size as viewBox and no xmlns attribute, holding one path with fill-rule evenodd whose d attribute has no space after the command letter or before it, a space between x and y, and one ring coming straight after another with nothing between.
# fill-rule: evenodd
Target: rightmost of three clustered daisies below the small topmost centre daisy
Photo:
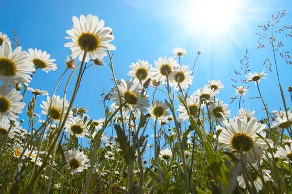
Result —
<instances>
[{"instance_id":1,"label":"rightmost of three clustered daisies below the small topmost centre daisy","mask_svg":"<svg viewBox=\"0 0 292 194\"><path fill-rule=\"evenodd\" d=\"M189 66L178 65L178 68L174 70L174 74L172 77L170 77L170 87L174 86L174 89L180 90L179 84L181 85L182 89L188 88L188 85L192 85L192 76L189 76L189 74L192 73L192 71L188 71Z\"/></svg>"}]
</instances>

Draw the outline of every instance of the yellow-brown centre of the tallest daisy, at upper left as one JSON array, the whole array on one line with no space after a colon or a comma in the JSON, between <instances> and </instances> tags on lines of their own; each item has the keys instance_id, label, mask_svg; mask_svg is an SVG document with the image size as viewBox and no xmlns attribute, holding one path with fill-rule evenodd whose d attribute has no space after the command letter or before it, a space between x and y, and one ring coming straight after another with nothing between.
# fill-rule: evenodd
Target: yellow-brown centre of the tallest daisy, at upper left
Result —
<instances>
[{"instance_id":1,"label":"yellow-brown centre of the tallest daisy, at upper left","mask_svg":"<svg viewBox=\"0 0 292 194\"><path fill-rule=\"evenodd\" d=\"M90 32L83 32L77 39L77 44L82 51L88 46L89 53L96 51L100 47L100 39L97 35Z\"/></svg>"}]
</instances>

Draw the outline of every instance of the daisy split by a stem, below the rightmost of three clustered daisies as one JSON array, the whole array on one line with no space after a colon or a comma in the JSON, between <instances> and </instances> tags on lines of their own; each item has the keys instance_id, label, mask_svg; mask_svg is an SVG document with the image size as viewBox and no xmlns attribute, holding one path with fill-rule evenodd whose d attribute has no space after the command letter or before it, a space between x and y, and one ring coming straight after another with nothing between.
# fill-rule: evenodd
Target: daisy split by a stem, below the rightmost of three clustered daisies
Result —
<instances>
[{"instance_id":1,"label":"daisy split by a stem, below the rightmost of three clustered daisies","mask_svg":"<svg viewBox=\"0 0 292 194\"><path fill-rule=\"evenodd\" d=\"M192 95L186 99L186 104L189 109L190 115L197 117L200 107L200 98ZM177 110L178 112L181 112L181 114L179 115L180 119L183 119L183 121L185 121L186 119L189 118L189 115L187 114L187 111L182 103L179 105Z\"/></svg>"}]
</instances>

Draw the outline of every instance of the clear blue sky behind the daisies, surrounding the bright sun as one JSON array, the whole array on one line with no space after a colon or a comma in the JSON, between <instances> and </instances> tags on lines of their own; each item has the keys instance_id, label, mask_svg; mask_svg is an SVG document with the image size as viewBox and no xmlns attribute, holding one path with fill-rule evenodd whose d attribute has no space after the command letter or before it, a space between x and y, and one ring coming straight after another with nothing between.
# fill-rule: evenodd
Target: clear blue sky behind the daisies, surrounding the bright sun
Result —
<instances>
[{"instance_id":1,"label":"clear blue sky behind the daisies, surrounding the bright sun","mask_svg":"<svg viewBox=\"0 0 292 194\"><path fill-rule=\"evenodd\" d=\"M188 1L189 2L189 1ZM234 23L225 31L213 28L213 33L206 33L200 26L196 26L196 20L206 16L201 15L196 18L179 17L185 14L186 8L190 12L191 5L187 1L162 0L30 0L12 1L0 0L0 31L12 37L12 28L17 30L21 38L21 46L24 50L37 48L47 51L51 58L55 58L58 69L49 74L38 71L34 76L30 87L48 90L51 95L58 78L66 69L64 60L70 55L64 43L66 30L72 27L72 17L92 14L105 20L105 26L113 30L115 39L111 42L116 46L114 51L114 68L116 78L128 78L128 66L138 59L148 60L154 65L154 60L161 56L173 56L172 50L175 47L183 47L188 55L182 58L182 64L193 66L197 57L197 52L201 51L201 56L195 67L193 85L190 93L196 91L208 83L208 80L221 80L224 88L217 96L220 100L229 104L230 97L235 97L234 84L231 78L237 79L234 70L239 71L239 60L244 57L245 50L249 49L251 72L265 70L268 74L267 79L262 80L260 88L264 100L267 102L269 110L279 110L283 107L280 98L278 84L276 82L276 72L270 46L266 49L256 50L256 32L261 32L257 25L266 24L271 20L272 14L287 9L287 15L280 23L281 25L292 24L292 2L291 0L247 0L244 7L240 7L238 14L239 23ZM193 5L196 6L196 5ZM194 7L195 8L195 7ZM207 9L206 9L207 12ZM191 15L191 14L189 14ZM188 16L189 16L188 15ZM192 25L194 21L194 25ZM185 28L185 24L192 26L191 30ZM212 25L212 24L210 24ZM198 28L198 29L196 29ZM292 39L282 39L286 48L292 50ZM288 85L292 85L292 66L287 65L278 56L279 74L288 106L291 106L288 92ZM269 72L262 63L265 58L270 57L273 62L273 72ZM104 58L108 64L108 57ZM62 95L66 78L63 79L56 94ZM85 72L75 105L85 106L91 118L98 119L103 116L103 110L99 107L100 94L105 89L108 92L114 85L111 79L110 68L108 65L96 70L92 67ZM72 81L68 98L71 98L72 88L75 84ZM250 83L245 98L258 97L256 85ZM149 94L152 93L150 89ZM25 96L25 102L32 97L30 93ZM158 96L159 97L159 96ZM162 96L161 96L162 97ZM37 100L45 100L39 97ZM256 111L256 117L264 116L260 99L246 99L246 107ZM238 100L229 105L232 116L237 115ZM37 113L41 108L37 107ZM24 114L25 115L25 110ZM22 117L22 116L21 116ZM26 117L27 118L27 117ZM44 117L43 117L44 119ZM148 132L151 135L153 132Z\"/></svg>"}]
</instances>

